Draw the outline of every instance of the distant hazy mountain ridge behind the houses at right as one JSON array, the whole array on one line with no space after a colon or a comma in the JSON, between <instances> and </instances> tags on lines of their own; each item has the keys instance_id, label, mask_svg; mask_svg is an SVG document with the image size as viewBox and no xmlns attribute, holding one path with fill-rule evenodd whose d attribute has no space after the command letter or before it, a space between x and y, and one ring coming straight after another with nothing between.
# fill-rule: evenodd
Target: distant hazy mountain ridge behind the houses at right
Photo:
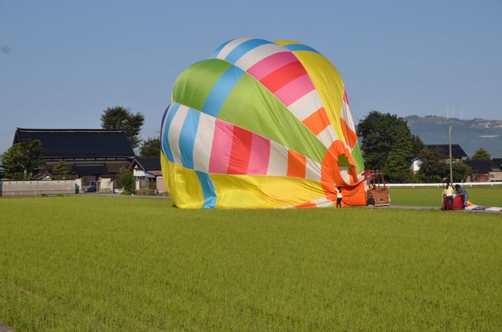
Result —
<instances>
[{"instance_id":1,"label":"distant hazy mountain ridge behind the houses at right","mask_svg":"<svg viewBox=\"0 0 502 332\"><path fill-rule=\"evenodd\" d=\"M451 125L451 142L458 143L471 156L483 147L491 157L502 157L502 120L460 120L436 115L404 118L411 133L419 135L425 144L448 144L448 125Z\"/></svg>"}]
</instances>

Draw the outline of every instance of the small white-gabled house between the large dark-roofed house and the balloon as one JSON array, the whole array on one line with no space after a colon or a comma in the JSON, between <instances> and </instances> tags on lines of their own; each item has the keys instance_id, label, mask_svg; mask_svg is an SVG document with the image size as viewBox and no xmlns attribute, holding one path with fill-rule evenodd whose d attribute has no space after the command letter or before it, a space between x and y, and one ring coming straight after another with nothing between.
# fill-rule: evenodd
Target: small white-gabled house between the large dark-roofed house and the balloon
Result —
<instances>
[{"instance_id":1,"label":"small white-gabled house between the large dark-roofed house and the balloon","mask_svg":"<svg viewBox=\"0 0 502 332\"><path fill-rule=\"evenodd\" d=\"M129 168L133 170L136 189L150 188L165 192L160 157L135 157Z\"/></svg>"}]
</instances>

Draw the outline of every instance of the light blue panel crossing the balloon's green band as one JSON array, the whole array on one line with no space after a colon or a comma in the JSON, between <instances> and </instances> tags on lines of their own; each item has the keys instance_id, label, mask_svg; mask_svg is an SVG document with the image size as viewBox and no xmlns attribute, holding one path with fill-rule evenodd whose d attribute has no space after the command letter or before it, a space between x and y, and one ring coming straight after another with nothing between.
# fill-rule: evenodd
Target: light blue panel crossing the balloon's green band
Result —
<instances>
[{"instance_id":1,"label":"light blue panel crossing the balloon's green band","mask_svg":"<svg viewBox=\"0 0 502 332\"><path fill-rule=\"evenodd\" d=\"M225 71L225 73L222 73L222 76L220 76L215 85L212 86L208 97L205 98L202 109L203 113L216 118L220 112L220 108L230 94L230 91L232 91L232 88L235 86L237 81L239 81L240 76L242 76L243 73L244 71L242 71L242 69L235 66L231 66Z\"/></svg>"}]
</instances>

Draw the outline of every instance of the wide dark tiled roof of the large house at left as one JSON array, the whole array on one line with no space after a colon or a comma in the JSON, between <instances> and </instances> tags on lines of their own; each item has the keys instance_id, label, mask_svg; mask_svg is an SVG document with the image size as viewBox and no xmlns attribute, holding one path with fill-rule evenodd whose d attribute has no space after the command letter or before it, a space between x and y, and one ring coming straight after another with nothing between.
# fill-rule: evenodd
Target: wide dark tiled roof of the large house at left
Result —
<instances>
[{"instance_id":1,"label":"wide dark tiled roof of the large house at left","mask_svg":"<svg viewBox=\"0 0 502 332\"><path fill-rule=\"evenodd\" d=\"M46 158L134 157L121 130L17 128L14 143L40 140Z\"/></svg>"}]
</instances>

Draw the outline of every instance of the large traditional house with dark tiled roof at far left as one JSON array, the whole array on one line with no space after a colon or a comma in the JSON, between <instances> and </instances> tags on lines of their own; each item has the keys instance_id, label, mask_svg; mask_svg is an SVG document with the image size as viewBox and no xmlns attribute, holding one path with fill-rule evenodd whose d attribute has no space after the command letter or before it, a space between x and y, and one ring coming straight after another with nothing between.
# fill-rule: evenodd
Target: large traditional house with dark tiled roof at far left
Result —
<instances>
[{"instance_id":1,"label":"large traditional house with dark tiled roof at far left","mask_svg":"<svg viewBox=\"0 0 502 332\"><path fill-rule=\"evenodd\" d=\"M121 130L17 128L13 144L40 140L46 162L37 178L51 179L51 170L60 161L68 163L68 180L82 182L115 180L121 167L129 167L135 153Z\"/></svg>"}]
</instances>

